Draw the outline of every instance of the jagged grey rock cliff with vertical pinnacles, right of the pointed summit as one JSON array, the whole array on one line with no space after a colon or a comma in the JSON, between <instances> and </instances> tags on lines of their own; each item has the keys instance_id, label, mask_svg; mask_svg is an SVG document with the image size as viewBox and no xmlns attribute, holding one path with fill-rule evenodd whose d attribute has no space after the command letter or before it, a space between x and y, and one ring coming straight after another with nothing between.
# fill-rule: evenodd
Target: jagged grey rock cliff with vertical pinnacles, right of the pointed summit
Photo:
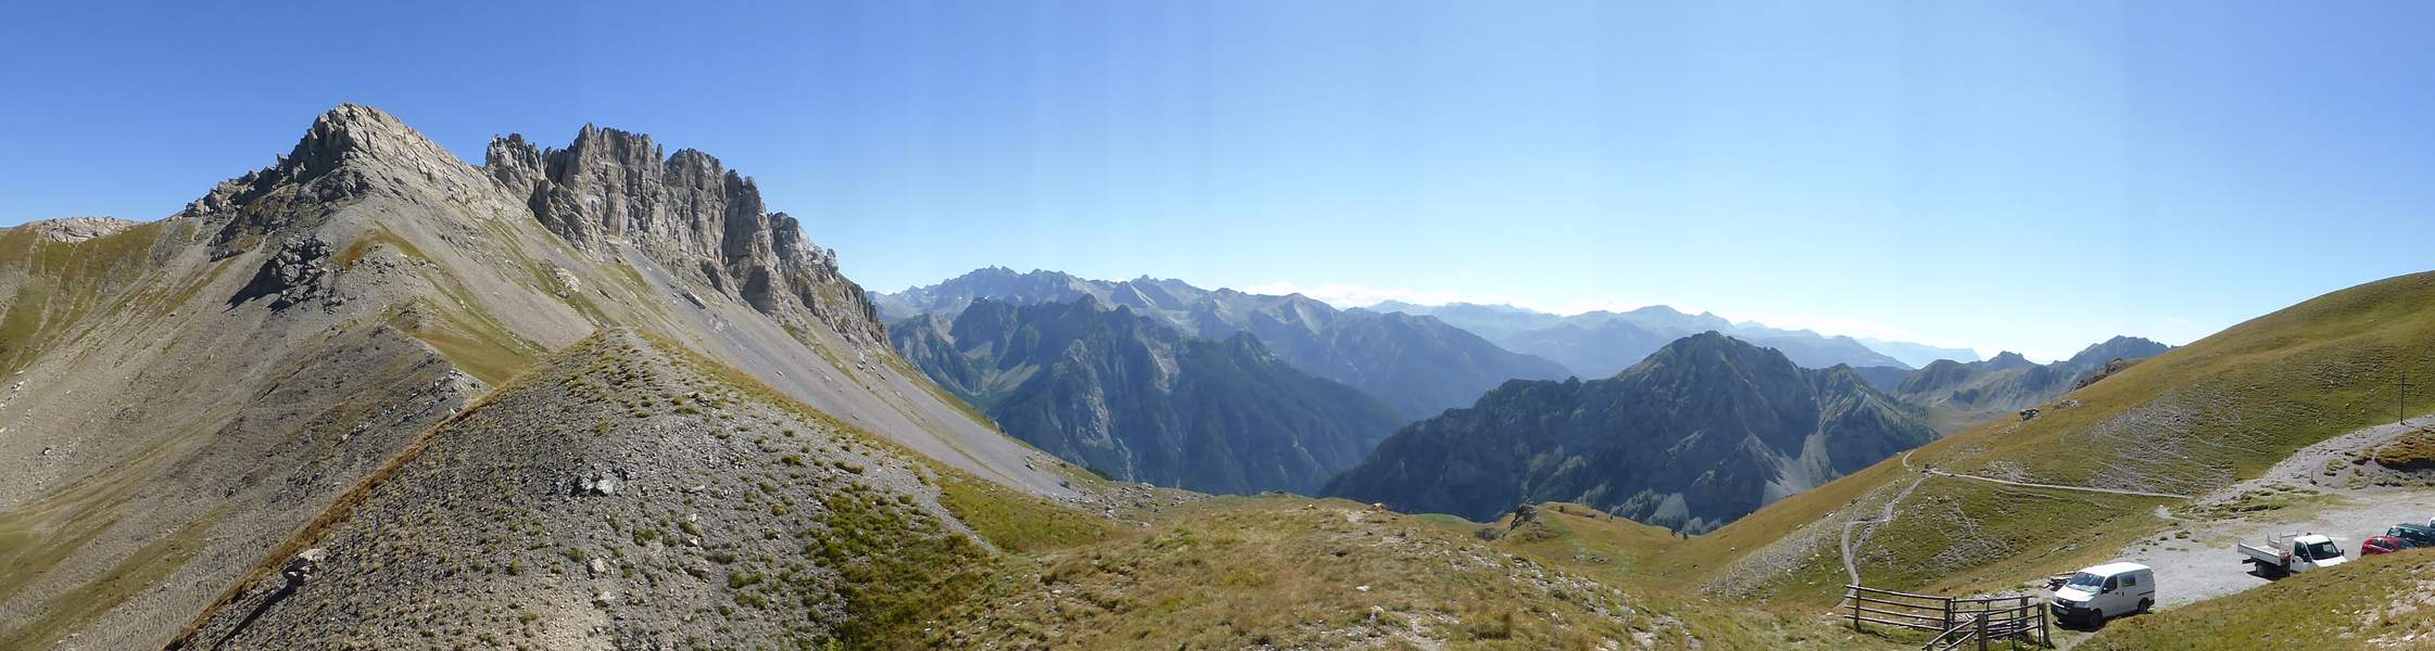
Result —
<instances>
[{"instance_id":1,"label":"jagged grey rock cliff with vertical pinnacles, right of the pointed summit","mask_svg":"<svg viewBox=\"0 0 2435 651\"><path fill-rule=\"evenodd\" d=\"M794 216L767 211L760 187L709 153L662 155L650 136L587 124L562 151L494 138L482 170L531 197L533 219L582 250L633 245L774 318L801 308L860 343L886 340L862 287L838 272L838 253L806 240Z\"/></svg>"}]
</instances>

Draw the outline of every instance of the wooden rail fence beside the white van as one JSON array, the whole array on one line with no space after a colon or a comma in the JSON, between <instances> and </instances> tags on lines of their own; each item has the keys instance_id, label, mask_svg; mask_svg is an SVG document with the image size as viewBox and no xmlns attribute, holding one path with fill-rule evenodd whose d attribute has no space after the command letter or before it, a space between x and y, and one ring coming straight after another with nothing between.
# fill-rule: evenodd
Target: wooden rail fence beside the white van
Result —
<instances>
[{"instance_id":1,"label":"wooden rail fence beside the white van","mask_svg":"<svg viewBox=\"0 0 2435 651\"><path fill-rule=\"evenodd\" d=\"M1999 641L2053 646L2045 600L2036 595L1941 598L1843 585L1843 605L1851 607L1853 629L1880 624L1929 632L1931 651L1955 651L1965 644L1989 649Z\"/></svg>"}]
</instances>

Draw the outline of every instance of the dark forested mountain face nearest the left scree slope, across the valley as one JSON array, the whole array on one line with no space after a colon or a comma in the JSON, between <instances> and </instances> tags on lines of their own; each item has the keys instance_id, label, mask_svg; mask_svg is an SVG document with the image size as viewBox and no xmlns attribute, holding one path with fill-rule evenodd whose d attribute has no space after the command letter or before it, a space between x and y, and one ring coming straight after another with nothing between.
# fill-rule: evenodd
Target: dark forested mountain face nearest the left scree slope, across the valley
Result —
<instances>
[{"instance_id":1,"label":"dark forested mountain face nearest the left scree slope, across the valley","mask_svg":"<svg viewBox=\"0 0 2435 651\"><path fill-rule=\"evenodd\" d=\"M1108 479L1208 493L1312 493L1403 420L1303 374L1249 333L1200 340L1105 308L993 299L901 321L903 357L1006 432Z\"/></svg>"}]
</instances>

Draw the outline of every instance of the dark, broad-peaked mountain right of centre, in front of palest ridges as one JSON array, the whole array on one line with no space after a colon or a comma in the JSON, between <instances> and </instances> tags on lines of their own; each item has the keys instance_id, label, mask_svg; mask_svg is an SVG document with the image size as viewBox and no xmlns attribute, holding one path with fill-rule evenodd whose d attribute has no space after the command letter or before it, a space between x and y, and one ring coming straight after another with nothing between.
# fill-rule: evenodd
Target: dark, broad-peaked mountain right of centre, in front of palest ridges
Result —
<instances>
[{"instance_id":1,"label":"dark, broad-peaked mountain right of centre, in front of palest ridges","mask_svg":"<svg viewBox=\"0 0 2435 651\"><path fill-rule=\"evenodd\" d=\"M1512 381L1412 423L1327 493L1471 520L1575 500L1702 532L1933 437L1851 369L1702 333L1612 379Z\"/></svg>"}]
</instances>

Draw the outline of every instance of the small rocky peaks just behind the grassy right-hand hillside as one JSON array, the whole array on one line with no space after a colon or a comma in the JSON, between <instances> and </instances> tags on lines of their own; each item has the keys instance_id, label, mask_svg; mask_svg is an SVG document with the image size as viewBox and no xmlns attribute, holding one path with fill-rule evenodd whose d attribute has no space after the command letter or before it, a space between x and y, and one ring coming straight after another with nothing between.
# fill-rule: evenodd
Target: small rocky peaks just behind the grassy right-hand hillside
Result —
<instances>
[{"instance_id":1,"label":"small rocky peaks just behind the grassy right-hand hillside","mask_svg":"<svg viewBox=\"0 0 2435 651\"><path fill-rule=\"evenodd\" d=\"M2138 362L2165 355L2170 345L2143 338L2111 338L2079 350L2070 360L2038 364L2019 352L1999 352L1985 362L1938 360L1897 381L1887 394L1926 408L1943 432L1958 432L1987 418L2002 418L2043 406L2106 369L2109 362ZM1882 386L1882 384L1880 384Z\"/></svg>"}]
</instances>

